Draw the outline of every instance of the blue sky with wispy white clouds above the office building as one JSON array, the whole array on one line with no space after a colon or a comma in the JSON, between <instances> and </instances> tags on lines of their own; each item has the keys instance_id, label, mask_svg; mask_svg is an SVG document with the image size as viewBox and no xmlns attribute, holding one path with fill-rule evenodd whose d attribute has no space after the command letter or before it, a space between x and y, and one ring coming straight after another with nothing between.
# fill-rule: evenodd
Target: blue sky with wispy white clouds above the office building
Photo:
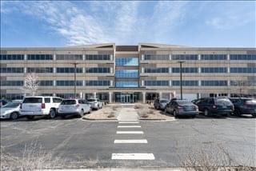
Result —
<instances>
[{"instance_id":1,"label":"blue sky with wispy white clouds above the office building","mask_svg":"<svg viewBox=\"0 0 256 171\"><path fill-rule=\"evenodd\" d=\"M1 46L255 47L256 2L1 1Z\"/></svg>"}]
</instances>

